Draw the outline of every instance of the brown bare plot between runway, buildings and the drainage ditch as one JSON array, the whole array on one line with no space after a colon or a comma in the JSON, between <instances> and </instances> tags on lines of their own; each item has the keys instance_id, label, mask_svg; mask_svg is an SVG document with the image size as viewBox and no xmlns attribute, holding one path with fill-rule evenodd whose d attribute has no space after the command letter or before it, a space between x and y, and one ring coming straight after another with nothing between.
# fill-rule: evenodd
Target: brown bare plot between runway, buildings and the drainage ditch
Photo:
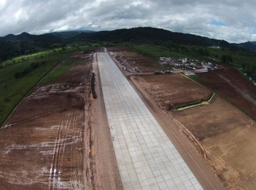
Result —
<instances>
[{"instance_id":1,"label":"brown bare plot between runway, buildings and the drainage ditch","mask_svg":"<svg viewBox=\"0 0 256 190\"><path fill-rule=\"evenodd\" d=\"M181 75L141 75L134 76L163 109L173 109L180 104L207 100L212 93Z\"/></svg>"}]
</instances>

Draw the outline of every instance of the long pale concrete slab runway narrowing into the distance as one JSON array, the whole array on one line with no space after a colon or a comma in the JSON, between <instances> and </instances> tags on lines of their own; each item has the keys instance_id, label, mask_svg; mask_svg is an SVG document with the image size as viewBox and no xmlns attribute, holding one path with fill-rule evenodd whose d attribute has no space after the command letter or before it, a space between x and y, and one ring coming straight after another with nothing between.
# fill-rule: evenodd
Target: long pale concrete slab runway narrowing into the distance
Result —
<instances>
[{"instance_id":1,"label":"long pale concrete slab runway narrowing into the distance","mask_svg":"<svg viewBox=\"0 0 256 190\"><path fill-rule=\"evenodd\" d=\"M124 190L203 190L108 53L97 58Z\"/></svg>"}]
</instances>

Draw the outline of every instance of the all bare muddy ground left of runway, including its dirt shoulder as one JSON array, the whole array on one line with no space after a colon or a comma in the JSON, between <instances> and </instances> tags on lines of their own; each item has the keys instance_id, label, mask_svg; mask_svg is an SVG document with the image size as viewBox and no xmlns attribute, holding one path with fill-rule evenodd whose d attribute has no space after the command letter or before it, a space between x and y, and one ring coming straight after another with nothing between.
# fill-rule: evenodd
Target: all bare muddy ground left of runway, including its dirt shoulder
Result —
<instances>
[{"instance_id":1,"label":"all bare muddy ground left of runway, including its dirt shoulder","mask_svg":"<svg viewBox=\"0 0 256 190\"><path fill-rule=\"evenodd\" d=\"M97 75L91 95L92 57L72 57L81 63L34 89L0 131L1 190L123 188Z\"/></svg>"}]
</instances>

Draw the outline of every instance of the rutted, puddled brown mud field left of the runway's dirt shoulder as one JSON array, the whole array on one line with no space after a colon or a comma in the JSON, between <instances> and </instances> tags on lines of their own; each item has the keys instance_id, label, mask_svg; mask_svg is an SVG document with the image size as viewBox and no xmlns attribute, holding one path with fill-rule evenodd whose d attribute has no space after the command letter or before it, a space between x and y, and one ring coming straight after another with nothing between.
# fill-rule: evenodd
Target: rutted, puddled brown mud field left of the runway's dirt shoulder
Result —
<instances>
[{"instance_id":1,"label":"rutted, puddled brown mud field left of the runway's dirt shoulder","mask_svg":"<svg viewBox=\"0 0 256 190\"><path fill-rule=\"evenodd\" d=\"M28 101L22 102L2 138L0 189L95 189L86 180L87 163L84 164L84 143L89 141L84 138L85 99L91 101L89 66L80 65L74 70L83 73L75 84L67 88L51 84L44 88L46 92L35 89ZM38 94L46 96L36 97ZM34 99L37 100L30 101Z\"/></svg>"}]
</instances>

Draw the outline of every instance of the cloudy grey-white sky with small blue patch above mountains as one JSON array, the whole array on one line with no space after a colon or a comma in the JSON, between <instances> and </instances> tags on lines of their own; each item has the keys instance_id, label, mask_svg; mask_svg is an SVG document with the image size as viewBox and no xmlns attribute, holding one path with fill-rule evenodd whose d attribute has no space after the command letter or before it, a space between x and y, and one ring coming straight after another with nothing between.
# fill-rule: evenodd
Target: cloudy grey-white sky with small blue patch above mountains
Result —
<instances>
[{"instance_id":1,"label":"cloudy grey-white sky with small blue patch above mountains","mask_svg":"<svg viewBox=\"0 0 256 190\"><path fill-rule=\"evenodd\" d=\"M0 36L155 27L256 41L256 0L0 0Z\"/></svg>"}]
</instances>

